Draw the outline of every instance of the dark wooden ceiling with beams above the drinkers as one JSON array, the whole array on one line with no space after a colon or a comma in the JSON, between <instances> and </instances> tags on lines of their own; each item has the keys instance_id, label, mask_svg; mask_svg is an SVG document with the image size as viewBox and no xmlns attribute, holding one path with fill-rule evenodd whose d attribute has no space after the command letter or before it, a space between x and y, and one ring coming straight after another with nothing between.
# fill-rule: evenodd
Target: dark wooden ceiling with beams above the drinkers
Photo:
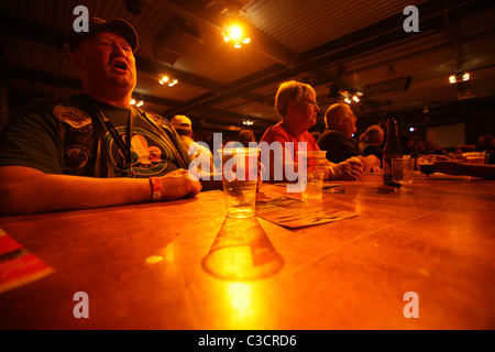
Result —
<instances>
[{"instance_id":1,"label":"dark wooden ceiling with beams above the drinkers","mask_svg":"<svg viewBox=\"0 0 495 352\"><path fill-rule=\"evenodd\" d=\"M404 112L495 96L495 2L333 0L8 0L2 1L1 82L11 107L81 89L66 38L77 15L121 18L140 36L138 86L145 109L196 128L261 132L279 120L278 85L310 82L324 110L339 91L362 92L359 117ZM415 6L419 32L403 11ZM234 48L221 33L243 22L251 43ZM451 85L465 70L471 79ZM178 79L160 85L163 75Z\"/></svg>"}]
</instances>

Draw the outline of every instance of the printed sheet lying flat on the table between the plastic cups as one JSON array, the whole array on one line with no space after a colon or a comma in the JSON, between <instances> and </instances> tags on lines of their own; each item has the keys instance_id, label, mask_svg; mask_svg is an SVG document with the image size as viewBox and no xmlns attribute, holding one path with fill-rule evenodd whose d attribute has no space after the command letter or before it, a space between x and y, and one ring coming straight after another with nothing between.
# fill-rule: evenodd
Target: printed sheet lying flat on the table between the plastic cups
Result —
<instances>
[{"instance_id":1,"label":"printed sheet lying flat on the table between the plastic cups","mask_svg":"<svg viewBox=\"0 0 495 352\"><path fill-rule=\"evenodd\" d=\"M339 221L356 217L358 213L323 208L289 197L280 197L256 201L256 216L276 224L295 229Z\"/></svg>"}]
</instances>

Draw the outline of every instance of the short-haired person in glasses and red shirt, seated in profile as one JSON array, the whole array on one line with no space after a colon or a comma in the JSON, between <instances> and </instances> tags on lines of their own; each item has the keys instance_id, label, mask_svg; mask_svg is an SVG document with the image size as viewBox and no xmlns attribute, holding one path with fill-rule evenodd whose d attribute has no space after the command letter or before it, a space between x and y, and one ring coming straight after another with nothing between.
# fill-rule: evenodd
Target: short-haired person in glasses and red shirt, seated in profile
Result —
<instances>
[{"instance_id":1,"label":"short-haired person in glasses and red shirt, seated in profile","mask_svg":"<svg viewBox=\"0 0 495 352\"><path fill-rule=\"evenodd\" d=\"M308 132L308 129L316 124L317 114L320 111L316 98L315 90L307 84L290 80L278 87L275 110L282 121L268 128L260 141L262 153L263 148L272 147L274 142L283 146L282 160L276 158L274 151L270 150L270 180L293 180L287 177L286 170L297 170L299 142L306 143L307 151L320 151ZM288 145L293 148L290 150ZM327 165L324 179L356 180L363 173L363 164L358 158L350 158L339 164L328 162ZM283 170L282 179L276 179L276 170Z\"/></svg>"}]
</instances>

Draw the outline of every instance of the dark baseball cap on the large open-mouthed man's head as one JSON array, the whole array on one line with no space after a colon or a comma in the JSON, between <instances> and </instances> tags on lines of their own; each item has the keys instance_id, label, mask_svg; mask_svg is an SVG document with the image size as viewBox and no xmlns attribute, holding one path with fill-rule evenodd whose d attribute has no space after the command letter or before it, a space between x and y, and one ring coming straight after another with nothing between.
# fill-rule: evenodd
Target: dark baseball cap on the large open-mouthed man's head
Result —
<instances>
[{"instance_id":1,"label":"dark baseball cap on the large open-mouthed man's head","mask_svg":"<svg viewBox=\"0 0 495 352\"><path fill-rule=\"evenodd\" d=\"M106 21L99 18L91 18L88 22L88 32L76 32L74 29L72 30L68 38L70 52L75 52L82 41L101 32L117 32L116 34L119 34L128 41L133 53L136 51L139 44L138 34L129 22L121 19Z\"/></svg>"}]
</instances>

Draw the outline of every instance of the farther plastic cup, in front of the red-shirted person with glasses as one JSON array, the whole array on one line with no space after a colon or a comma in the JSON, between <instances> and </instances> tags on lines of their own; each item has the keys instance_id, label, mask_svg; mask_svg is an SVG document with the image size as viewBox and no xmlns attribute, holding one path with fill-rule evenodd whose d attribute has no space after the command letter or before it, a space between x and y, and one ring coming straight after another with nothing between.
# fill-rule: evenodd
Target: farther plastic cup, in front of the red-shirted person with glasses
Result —
<instances>
[{"instance_id":1,"label":"farther plastic cup, in front of the red-shirted person with glasses","mask_svg":"<svg viewBox=\"0 0 495 352\"><path fill-rule=\"evenodd\" d=\"M323 197L326 155L327 151L297 152L302 199Z\"/></svg>"}]
</instances>

